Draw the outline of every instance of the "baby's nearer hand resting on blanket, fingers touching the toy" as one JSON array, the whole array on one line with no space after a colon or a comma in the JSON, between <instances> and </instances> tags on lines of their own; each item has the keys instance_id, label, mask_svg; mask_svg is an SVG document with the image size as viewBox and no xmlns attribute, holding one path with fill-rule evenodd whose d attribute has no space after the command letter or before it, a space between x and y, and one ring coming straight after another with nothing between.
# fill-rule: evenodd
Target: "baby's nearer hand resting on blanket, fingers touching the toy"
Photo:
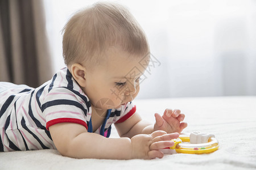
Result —
<instances>
[{"instance_id":1,"label":"baby's nearer hand resting on blanket, fingers touching the toy","mask_svg":"<svg viewBox=\"0 0 256 170\"><path fill-rule=\"evenodd\" d=\"M171 139L179 137L178 133L167 134L165 131L154 131L150 135L139 134L131 138L133 159L163 158L162 148L174 146Z\"/></svg>"}]
</instances>

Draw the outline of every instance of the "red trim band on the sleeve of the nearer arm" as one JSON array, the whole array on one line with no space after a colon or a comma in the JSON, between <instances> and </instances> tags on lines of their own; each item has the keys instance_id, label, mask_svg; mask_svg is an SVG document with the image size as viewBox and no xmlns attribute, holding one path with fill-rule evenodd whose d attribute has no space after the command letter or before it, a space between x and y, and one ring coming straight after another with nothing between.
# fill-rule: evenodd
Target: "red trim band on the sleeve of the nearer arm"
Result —
<instances>
[{"instance_id":1,"label":"red trim band on the sleeve of the nearer arm","mask_svg":"<svg viewBox=\"0 0 256 170\"><path fill-rule=\"evenodd\" d=\"M59 124L59 123L75 123L75 124L80 124L82 126L85 126L86 130L88 130L88 126L87 124L85 123L85 121L82 121L78 118L56 118L56 119L53 119L51 121L48 121L46 123L46 129L49 130L49 126L52 126L52 125L55 125L55 124Z\"/></svg>"}]
</instances>

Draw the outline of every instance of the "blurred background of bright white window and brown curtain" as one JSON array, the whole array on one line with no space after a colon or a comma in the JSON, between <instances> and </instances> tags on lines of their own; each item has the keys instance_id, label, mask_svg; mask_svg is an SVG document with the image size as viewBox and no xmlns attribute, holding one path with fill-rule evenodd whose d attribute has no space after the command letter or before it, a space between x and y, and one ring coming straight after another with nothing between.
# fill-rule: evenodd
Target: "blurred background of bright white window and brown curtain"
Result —
<instances>
[{"instance_id":1,"label":"blurred background of bright white window and brown curtain","mask_svg":"<svg viewBox=\"0 0 256 170\"><path fill-rule=\"evenodd\" d=\"M0 80L38 86L65 66L61 29L67 20L96 1L0 2ZM256 95L255 0L114 2L141 24L158 61L145 73L137 99ZM32 31L26 31L31 23ZM34 41L24 41L24 34ZM27 44L34 45L34 53Z\"/></svg>"}]
</instances>

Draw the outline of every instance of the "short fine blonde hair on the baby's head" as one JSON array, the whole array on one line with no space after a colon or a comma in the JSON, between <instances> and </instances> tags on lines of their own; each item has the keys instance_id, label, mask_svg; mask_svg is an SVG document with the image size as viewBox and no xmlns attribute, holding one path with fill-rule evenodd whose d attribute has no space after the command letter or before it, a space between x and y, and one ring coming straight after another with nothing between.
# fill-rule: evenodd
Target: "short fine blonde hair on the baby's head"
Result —
<instances>
[{"instance_id":1,"label":"short fine blonde hair on the baby's head","mask_svg":"<svg viewBox=\"0 0 256 170\"><path fill-rule=\"evenodd\" d=\"M135 55L146 55L150 50L141 26L127 8L117 3L99 2L76 12L63 33L67 66L81 62L94 66L110 46Z\"/></svg>"}]
</instances>

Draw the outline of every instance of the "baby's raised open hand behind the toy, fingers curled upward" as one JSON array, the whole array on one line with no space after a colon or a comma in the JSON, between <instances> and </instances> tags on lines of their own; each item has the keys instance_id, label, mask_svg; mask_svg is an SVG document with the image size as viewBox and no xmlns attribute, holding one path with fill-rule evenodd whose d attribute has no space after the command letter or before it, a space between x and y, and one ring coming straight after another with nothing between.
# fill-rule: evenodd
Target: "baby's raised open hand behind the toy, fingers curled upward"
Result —
<instances>
[{"instance_id":1,"label":"baby's raised open hand behind the toy, fingers curled upward","mask_svg":"<svg viewBox=\"0 0 256 170\"><path fill-rule=\"evenodd\" d=\"M181 131L188 126L187 123L181 122L185 115L180 113L180 110L166 109L163 116L155 113L154 130L163 130L167 133L181 133Z\"/></svg>"}]
</instances>

